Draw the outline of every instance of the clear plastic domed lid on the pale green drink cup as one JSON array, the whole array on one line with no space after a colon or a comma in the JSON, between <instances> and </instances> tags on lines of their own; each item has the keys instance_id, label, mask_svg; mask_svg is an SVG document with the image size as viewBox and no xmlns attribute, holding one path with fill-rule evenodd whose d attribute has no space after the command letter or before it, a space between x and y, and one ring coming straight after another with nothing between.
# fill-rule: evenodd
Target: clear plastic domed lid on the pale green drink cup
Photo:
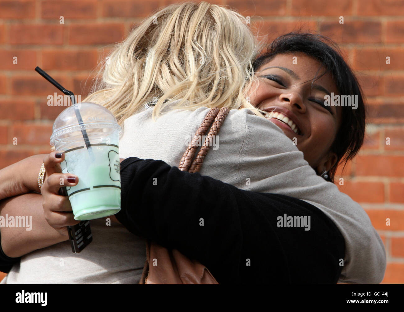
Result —
<instances>
[{"instance_id":1,"label":"clear plastic domed lid on the pale green drink cup","mask_svg":"<svg viewBox=\"0 0 404 312\"><path fill-rule=\"evenodd\" d=\"M55 139L61 135L94 128L113 128L119 130L119 133L122 131L114 114L99 104L82 102L69 106L53 123L50 145L55 146Z\"/></svg>"}]
</instances>

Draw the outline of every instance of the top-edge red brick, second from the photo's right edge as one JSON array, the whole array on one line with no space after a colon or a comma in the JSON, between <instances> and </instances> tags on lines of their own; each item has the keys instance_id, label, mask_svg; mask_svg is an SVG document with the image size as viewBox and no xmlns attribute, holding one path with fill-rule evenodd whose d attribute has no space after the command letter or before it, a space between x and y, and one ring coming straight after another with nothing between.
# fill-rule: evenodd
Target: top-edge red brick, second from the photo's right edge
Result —
<instances>
[{"instance_id":1,"label":"top-edge red brick, second from the photo's right edge","mask_svg":"<svg viewBox=\"0 0 404 312\"><path fill-rule=\"evenodd\" d=\"M336 15L338 12L338 16ZM351 15L352 1L316 1L314 4L312 0L292 0L292 15L297 16L324 16L332 15L337 21L340 15Z\"/></svg>"}]
</instances>

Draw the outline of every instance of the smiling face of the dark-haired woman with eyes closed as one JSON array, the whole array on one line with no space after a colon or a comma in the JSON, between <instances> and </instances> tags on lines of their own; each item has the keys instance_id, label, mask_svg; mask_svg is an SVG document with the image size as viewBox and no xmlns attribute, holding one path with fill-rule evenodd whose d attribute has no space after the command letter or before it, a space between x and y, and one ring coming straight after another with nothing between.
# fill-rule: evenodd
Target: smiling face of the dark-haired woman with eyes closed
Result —
<instances>
[{"instance_id":1,"label":"smiling face of the dark-haired woman with eyes closed","mask_svg":"<svg viewBox=\"0 0 404 312\"><path fill-rule=\"evenodd\" d=\"M249 94L251 104L267 112L318 173L337 161L330 148L341 126L341 108L324 105L325 95L339 94L334 80L329 73L316 79L325 71L304 53L278 54L256 71L258 84Z\"/></svg>"}]
</instances>

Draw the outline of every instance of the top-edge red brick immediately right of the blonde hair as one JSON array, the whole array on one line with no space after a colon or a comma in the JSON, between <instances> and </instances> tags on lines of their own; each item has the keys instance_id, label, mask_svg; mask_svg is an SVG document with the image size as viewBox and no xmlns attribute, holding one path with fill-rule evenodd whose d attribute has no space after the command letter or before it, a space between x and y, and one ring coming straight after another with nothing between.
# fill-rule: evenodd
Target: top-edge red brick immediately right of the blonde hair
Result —
<instances>
[{"instance_id":1,"label":"top-edge red brick immediately right of the blonde hair","mask_svg":"<svg viewBox=\"0 0 404 312\"><path fill-rule=\"evenodd\" d=\"M286 14L286 0L227 0L226 4L243 16Z\"/></svg>"}]
</instances>

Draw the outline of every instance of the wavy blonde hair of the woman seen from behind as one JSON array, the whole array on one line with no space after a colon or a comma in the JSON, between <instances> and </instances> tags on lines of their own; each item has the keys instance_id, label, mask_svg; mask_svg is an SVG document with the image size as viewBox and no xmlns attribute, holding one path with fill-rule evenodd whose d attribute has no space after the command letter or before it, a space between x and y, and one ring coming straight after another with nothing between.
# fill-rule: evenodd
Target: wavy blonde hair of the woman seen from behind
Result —
<instances>
[{"instance_id":1,"label":"wavy blonde hair of the woman seen from behind","mask_svg":"<svg viewBox=\"0 0 404 312\"><path fill-rule=\"evenodd\" d=\"M84 101L111 110L118 123L154 101L170 109L257 110L245 97L259 47L245 18L206 2L172 4L147 17L111 51ZM261 115L262 116L262 115Z\"/></svg>"}]
</instances>

